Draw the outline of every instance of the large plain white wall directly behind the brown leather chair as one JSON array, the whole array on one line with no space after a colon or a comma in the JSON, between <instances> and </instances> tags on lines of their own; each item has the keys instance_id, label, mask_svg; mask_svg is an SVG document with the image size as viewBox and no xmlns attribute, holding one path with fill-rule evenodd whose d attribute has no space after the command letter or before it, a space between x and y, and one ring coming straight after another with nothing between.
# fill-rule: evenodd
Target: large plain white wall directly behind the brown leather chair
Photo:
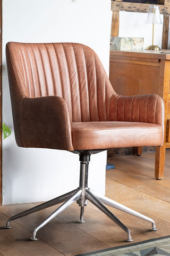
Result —
<instances>
[{"instance_id":1,"label":"large plain white wall directly behind the brown leather chair","mask_svg":"<svg viewBox=\"0 0 170 256\"><path fill-rule=\"evenodd\" d=\"M108 73L110 10L111 0L3 1L3 122L12 128L12 135L3 141L3 204L46 201L79 185L78 155L16 146L6 71L6 43L83 43L97 52ZM91 157L89 186L101 193L105 191L105 165L106 151Z\"/></svg>"}]
</instances>

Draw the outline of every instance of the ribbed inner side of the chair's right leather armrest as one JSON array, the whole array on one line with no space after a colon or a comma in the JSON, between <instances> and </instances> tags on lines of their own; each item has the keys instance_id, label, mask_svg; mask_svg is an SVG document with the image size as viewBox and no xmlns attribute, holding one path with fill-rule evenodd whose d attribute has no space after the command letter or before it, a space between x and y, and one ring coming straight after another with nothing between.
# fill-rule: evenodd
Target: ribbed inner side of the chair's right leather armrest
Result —
<instances>
[{"instance_id":1,"label":"ribbed inner side of the chair's right leather armrest","mask_svg":"<svg viewBox=\"0 0 170 256\"><path fill-rule=\"evenodd\" d=\"M164 126L164 102L156 94L121 96L113 93L110 121L142 122Z\"/></svg>"}]
</instances>

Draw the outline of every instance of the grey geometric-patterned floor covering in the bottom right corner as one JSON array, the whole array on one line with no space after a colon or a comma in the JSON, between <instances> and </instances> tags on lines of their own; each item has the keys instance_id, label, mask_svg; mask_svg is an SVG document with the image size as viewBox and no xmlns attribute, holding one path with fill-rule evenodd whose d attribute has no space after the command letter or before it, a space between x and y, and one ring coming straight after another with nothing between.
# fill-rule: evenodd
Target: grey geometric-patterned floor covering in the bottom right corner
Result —
<instances>
[{"instance_id":1,"label":"grey geometric-patterned floor covering in the bottom right corner","mask_svg":"<svg viewBox=\"0 0 170 256\"><path fill-rule=\"evenodd\" d=\"M77 256L170 256L170 236L79 254Z\"/></svg>"}]
</instances>

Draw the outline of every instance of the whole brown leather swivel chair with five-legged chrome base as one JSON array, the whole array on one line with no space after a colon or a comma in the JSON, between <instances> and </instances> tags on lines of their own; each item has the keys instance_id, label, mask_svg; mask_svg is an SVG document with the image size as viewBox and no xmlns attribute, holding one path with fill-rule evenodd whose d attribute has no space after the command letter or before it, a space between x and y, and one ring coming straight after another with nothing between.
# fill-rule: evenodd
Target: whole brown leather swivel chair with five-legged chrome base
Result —
<instances>
[{"instance_id":1,"label":"whole brown leather swivel chair with five-legged chrome base","mask_svg":"<svg viewBox=\"0 0 170 256\"><path fill-rule=\"evenodd\" d=\"M156 230L154 220L98 195L87 182L91 154L114 147L163 144L162 98L117 95L96 53L82 44L10 42L6 59L18 146L62 149L80 156L77 189L14 215L6 228L14 219L64 202L35 228L31 239L36 240L37 231L75 201L84 222L89 200L128 234L127 241L132 241L130 230L103 203L151 222Z\"/></svg>"}]
</instances>

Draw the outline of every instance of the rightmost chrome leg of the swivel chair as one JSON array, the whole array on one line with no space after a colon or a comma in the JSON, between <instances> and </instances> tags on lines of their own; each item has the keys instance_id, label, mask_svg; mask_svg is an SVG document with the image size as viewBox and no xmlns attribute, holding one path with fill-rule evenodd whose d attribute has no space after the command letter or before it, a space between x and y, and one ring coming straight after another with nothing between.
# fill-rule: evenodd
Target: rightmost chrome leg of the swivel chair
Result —
<instances>
[{"instance_id":1,"label":"rightmost chrome leg of the swivel chair","mask_svg":"<svg viewBox=\"0 0 170 256\"><path fill-rule=\"evenodd\" d=\"M106 196L100 195L100 194L96 193L95 191L93 191L91 189L90 189L90 192L93 195L95 195L102 203L104 203L106 205L112 206L115 209L118 209L120 211L123 211L123 212L129 213L131 215L134 215L135 217L138 217L138 218L140 218L142 220L146 220L148 222L151 222L151 224L152 224L151 230L152 231L156 231L157 230L157 228L155 226L155 221L150 219L150 218L148 218L147 216L145 216L145 215L143 215L143 214L141 214L139 212L136 212L136 211L134 211L134 210L132 210L132 209L130 209L130 208L120 204L120 203L117 203L117 202L113 201L112 199L109 199Z\"/></svg>"}]
</instances>

